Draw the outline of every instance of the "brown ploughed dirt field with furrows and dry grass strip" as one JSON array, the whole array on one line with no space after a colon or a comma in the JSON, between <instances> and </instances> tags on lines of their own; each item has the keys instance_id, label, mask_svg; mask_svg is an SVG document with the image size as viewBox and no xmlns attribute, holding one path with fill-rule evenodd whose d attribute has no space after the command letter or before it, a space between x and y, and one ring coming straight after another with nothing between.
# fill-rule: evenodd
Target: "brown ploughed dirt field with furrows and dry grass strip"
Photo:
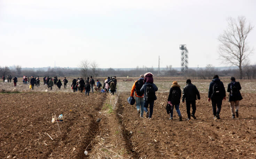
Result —
<instances>
[{"instance_id":1,"label":"brown ploughed dirt field with furrows and dry grass strip","mask_svg":"<svg viewBox=\"0 0 256 159\"><path fill-rule=\"evenodd\" d=\"M119 88L127 85L119 82ZM175 110L174 120L166 113L166 91L157 92L153 119L148 120L127 103L126 91L85 97L71 89L44 90L0 94L0 158L256 158L255 93L242 92L239 118L231 118L224 101L221 120L214 121L201 91L197 119L186 121L181 104L179 122ZM60 129L51 123L54 113L64 116Z\"/></svg>"}]
</instances>

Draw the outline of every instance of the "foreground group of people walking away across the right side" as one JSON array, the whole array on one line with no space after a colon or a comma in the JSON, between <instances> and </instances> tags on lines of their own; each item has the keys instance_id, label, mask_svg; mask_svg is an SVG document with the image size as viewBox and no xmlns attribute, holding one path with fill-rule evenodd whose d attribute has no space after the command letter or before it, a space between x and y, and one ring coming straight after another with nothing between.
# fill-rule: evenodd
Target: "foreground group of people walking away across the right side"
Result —
<instances>
[{"instance_id":1,"label":"foreground group of people walking away across the right side","mask_svg":"<svg viewBox=\"0 0 256 159\"><path fill-rule=\"evenodd\" d=\"M229 102L232 112L232 118L239 117L239 101L242 100L240 93L241 85L239 82L235 81L234 77L231 77L231 82L228 83L227 92L229 92ZM131 97L134 96L137 113L143 118L143 112L146 113L146 117L152 119L154 101L157 99L155 92L158 90L157 86L153 83L153 74L148 72L144 75L140 75L140 78L134 82L131 89ZM181 100L180 100L181 98ZM191 120L191 117L196 119L196 100L200 100L200 93L195 85L192 84L190 79L186 80L186 86L183 88L181 93L180 85L177 81L173 81L168 101L166 105L166 111L170 114L170 120L173 120L173 109L175 107L176 112L179 116L179 121L182 121L182 115L179 110L180 102L185 103L187 109L187 120ZM214 120L220 119L220 111L222 106L222 100L226 100L226 91L223 82L220 81L218 75L215 75L210 82L208 91L208 101L212 103L212 112L214 115ZM149 111L148 111L149 105ZM192 107L192 113L191 113ZM235 111L234 111L235 108Z\"/></svg>"}]
</instances>

